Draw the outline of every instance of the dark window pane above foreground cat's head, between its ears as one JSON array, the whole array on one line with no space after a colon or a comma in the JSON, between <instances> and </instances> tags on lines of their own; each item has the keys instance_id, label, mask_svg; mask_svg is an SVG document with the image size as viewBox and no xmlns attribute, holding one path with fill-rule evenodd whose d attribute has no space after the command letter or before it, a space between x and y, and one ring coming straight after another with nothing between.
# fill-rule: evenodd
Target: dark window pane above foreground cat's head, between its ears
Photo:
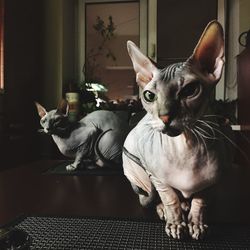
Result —
<instances>
[{"instance_id":1,"label":"dark window pane above foreground cat's head, between its ears","mask_svg":"<svg viewBox=\"0 0 250 250\"><path fill-rule=\"evenodd\" d=\"M191 56L208 22L216 19L216 17L216 0L158 1L158 65L166 67L172 63L185 61Z\"/></svg>"}]
</instances>

